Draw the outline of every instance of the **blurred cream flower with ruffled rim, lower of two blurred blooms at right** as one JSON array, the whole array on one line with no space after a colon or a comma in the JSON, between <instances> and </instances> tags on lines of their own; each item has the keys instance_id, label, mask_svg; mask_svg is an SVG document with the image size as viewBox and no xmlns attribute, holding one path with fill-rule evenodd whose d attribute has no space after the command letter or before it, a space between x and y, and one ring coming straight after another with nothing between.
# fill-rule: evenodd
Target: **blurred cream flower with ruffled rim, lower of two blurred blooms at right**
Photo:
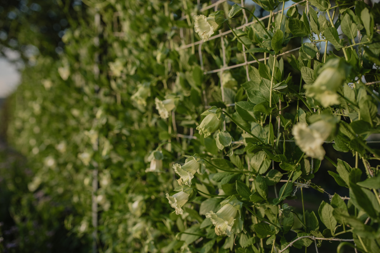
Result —
<instances>
[{"instance_id":1,"label":"blurred cream flower with ruffled rim, lower of two blurred blooms at right","mask_svg":"<svg viewBox=\"0 0 380 253\"><path fill-rule=\"evenodd\" d=\"M307 156L323 160L326 152L322 147L323 142L328 138L332 131L330 123L319 120L307 126L305 122L294 125L292 134L298 147Z\"/></svg>"}]
</instances>

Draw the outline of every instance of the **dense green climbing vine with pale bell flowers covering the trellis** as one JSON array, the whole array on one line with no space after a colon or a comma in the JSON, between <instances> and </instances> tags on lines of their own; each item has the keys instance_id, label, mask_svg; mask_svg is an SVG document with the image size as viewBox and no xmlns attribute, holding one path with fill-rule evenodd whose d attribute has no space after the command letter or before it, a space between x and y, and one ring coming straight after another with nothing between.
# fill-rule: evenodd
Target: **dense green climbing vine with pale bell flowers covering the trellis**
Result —
<instances>
[{"instance_id":1,"label":"dense green climbing vine with pale bell flowers covering the trellis","mask_svg":"<svg viewBox=\"0 0 380 253\"><path fill-rule=\"evenodd\" d=\"M293 252L336 238L333 251L379 252L380 151L366 142L380 132L378 5L255 2L268 18L227 2L84 1L60 60L37 57L13 96L8 138L51 207L43 220L64 217L99 252ZM350 199L329 199L326 178ZM312 193L319 208L305 210Z\"/></svg>"}]
</instances>

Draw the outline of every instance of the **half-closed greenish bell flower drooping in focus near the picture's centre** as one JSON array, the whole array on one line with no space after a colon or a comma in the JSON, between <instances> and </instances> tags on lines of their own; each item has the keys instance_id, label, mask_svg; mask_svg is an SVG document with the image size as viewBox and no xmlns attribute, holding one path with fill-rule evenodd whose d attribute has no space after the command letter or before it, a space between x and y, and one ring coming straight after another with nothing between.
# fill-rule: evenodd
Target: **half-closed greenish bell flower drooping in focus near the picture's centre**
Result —
<instances>
[{"instance_id":1,"label":"half-closed greenish bell flower drooping in focus near the picture's centre","mask_svg":"<svg viewBox=\"0 0 380 253\"><path fill-rule=\"evenodd\" d=\"M199 130L199 134L204 134L204 138L220 129L226 117L222 113L222 109L217 108L216 106L212 106L201 115L206 115L206 117L202 120L201 124L196 127L196 129Z\"/></svg>"}]
</instances>

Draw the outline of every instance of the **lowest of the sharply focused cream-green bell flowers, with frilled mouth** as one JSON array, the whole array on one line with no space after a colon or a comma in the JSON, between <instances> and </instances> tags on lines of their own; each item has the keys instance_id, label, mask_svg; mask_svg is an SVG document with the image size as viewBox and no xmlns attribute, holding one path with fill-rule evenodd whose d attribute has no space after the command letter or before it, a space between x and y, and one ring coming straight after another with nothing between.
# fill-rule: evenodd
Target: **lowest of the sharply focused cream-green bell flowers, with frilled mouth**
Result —
<instances>
[{"instance_id":1,"label":"lowest of the sharply focused cream-green bell flowers, with frilled mouth","mask_svg":"<svg viewBox=\"0 0 380 253\"><path fill-rule=\"evenodd\" d=\"M218 212L210 211L206 213L206 218L211 219L212 224L215 226L215 233L218 236L223 234L231 236L235 220L240 218L242 204L233 195L220 203L222 208Z\"/></svg>"}]
</instances>

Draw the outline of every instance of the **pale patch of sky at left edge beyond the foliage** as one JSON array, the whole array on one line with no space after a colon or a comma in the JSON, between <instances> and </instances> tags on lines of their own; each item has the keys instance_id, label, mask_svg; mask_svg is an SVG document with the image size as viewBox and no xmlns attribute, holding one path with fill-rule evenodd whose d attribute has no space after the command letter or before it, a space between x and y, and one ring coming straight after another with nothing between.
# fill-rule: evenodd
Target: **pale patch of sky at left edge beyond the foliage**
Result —
<instances>
[{"instance_id":1,"label":"pale patch of sky at left edge beyond the foliage","mask_svg":"<svg viewBox=\"0 0 380 253\"><path fill-rule=\"evenodd\" d=\"M16 89L20 74L16 65L5 58L0 58L0 98L8 96Z\"/></svg>"}]
</instances>

